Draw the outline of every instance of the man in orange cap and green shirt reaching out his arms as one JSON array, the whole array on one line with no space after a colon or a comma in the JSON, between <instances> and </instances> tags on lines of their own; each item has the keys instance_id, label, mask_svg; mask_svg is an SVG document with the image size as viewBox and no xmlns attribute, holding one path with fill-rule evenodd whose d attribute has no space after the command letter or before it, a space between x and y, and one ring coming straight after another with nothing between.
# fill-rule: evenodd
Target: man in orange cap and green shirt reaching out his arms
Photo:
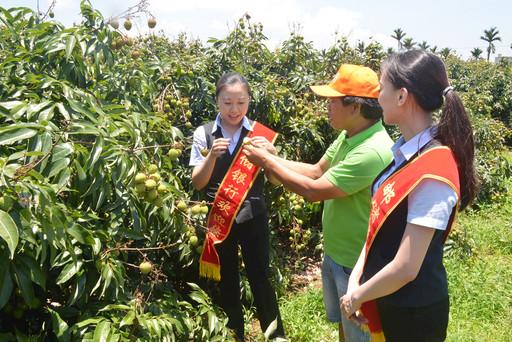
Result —
<instances>
[{"instance_id":1,"label":"man in orange cap and green shirt reaching out his arms","mask_svg":"<svg viewBox=\"0 0 512 342\"><path fill-rule=\"evenodd\" d=\"M289 190L310 201L324 201L322 283L327 318L339 323L340 341L369 341L368 333L341 314L339 298L346 293L365 242L370 186L392 160L393 142L382 125L377 101L379 79L367 67L343 64L329 84L311 90L328 98L329 123L341 131L316 164L289 161L250 144L244 151Z\"/></svg>"}]
</instances>

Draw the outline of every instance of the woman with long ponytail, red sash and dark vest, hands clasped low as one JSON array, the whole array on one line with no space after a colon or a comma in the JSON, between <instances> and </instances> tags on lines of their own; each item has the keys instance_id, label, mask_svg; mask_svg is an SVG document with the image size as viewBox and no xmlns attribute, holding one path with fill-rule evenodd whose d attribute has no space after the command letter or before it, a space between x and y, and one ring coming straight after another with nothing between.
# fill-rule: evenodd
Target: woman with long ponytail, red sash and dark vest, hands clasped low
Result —
<instances>
[{"instance_id":1,"label":"woman with long ponytail, red sash and dark vest, hands clasped low","mask_svg":"<svg viewBox=\"0 0 512 342\"><path fill-rule=\"evenodd\" d=\"M392 148L393 162L373 184L366 244L340 306L374 340L444 341L443 244L456 211L475 197L473 131L436 55L394 54L381 71L384 121L402 136Z\"/></svg>"}]
</instances>

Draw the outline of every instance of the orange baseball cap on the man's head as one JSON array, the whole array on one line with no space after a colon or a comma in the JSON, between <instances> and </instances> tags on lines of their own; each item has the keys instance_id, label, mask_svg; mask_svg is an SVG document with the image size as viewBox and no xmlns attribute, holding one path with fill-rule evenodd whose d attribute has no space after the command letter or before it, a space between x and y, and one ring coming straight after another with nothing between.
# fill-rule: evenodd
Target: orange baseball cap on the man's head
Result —
<instances>
[{"instance_id":1,"label":"orange baseball cap on the man's head","mask_svg":"<svg viewBox=\"0 0 512 342\"><path fill-rule=\"evenodd\" d=\"M372 69L361 65L342 64L334 79L325 85L311 86L311 90L323 97L379 97L379 77Z\"/></svg>"}]
</instances>

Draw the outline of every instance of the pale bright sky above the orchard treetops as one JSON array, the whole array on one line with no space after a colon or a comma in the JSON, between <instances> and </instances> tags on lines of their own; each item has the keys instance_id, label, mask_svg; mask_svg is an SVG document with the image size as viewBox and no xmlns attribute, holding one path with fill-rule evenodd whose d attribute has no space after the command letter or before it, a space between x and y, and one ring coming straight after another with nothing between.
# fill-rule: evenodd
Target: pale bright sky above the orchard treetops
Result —
<instances>
[{"instance_id":1,"label":"pale bright sky above the orchard treetops","mask_svg":"<svg viewBox=\"0 0 512 342\"><path fill-rule=\"evenodd\" d=\"M140 0L91 0L105 18L117 16ZM510 0L146 0L148 10L157 19L156 31L170 38L185 32L206 41L223 38L237 19L250 14L251 22L263 24L267 45L273 49L298 31L317 48L326 48L335 35L347 36L355 46L358 41L380 42L396 49L391 35L401 28L416 42L427 41L439 49L449 47L463 58L486 43L480 39L485 29L497 27L502 41L496 42L496 54L512 56L512 1ZM39 0L45 11L51 0ZM37 0L0 0L4 8L37 8ZM64 25L80 22L79 0L56 0L55 19ZM135 19L130 34L148 31L146 17Z\"/></svg>"}]
</instances>

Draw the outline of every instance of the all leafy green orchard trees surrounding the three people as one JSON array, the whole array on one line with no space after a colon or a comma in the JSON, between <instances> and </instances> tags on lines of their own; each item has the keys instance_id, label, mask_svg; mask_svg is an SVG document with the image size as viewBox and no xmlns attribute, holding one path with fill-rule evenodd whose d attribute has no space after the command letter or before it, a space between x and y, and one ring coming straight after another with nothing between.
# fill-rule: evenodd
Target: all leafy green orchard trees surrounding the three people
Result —
<instances>
[{"instance_id":1,"label":"all leafy green orchard trees surrounding the three people","mask_svg":"<svg viewBox=\"0 0 512 342\"><path fill-rule=\"evenodd\" d=\"M65 28L26 8L0 8L0 338L225 340L226 320L203 291L214 290L197 278L200 251L189 240L201 237L204 215L176 208L200 200L188 146L194 127L216 114L215 82L230 70L247 76L249 116L280 132L281 155L316 162L336 133L309 85L343 62L378 70L387 52L343 37L317 50L297 32L270 51L248 18L207 43L134 39L88 1L81 12L83 21ZM512 68L445 61L475 128L478 207L504 196L512 171ZM178 160L167 156L183 147ZM156 205L134 190L150 164L168 189ZM304 257L320 253L321 205L282 188L267 195L283 293ZM145 260L149 276L138 270ZM244 299L250 305L248 286Z\"/></svg>"}]
</instances>

